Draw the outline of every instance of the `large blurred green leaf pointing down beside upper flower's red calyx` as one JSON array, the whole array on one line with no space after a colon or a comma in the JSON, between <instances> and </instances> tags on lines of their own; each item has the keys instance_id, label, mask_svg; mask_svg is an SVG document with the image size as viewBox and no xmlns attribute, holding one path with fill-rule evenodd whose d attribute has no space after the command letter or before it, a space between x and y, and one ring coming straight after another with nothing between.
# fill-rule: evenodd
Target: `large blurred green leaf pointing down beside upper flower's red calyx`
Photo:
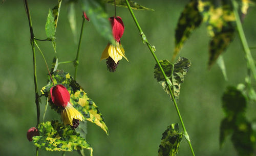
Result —
<instances>
[{"instance_id":1,"label":"large blurred green leaf pointing down beside upper flower's red calyx","mask_svg":"<svg viewBox=\"0 0 256 156\"><path fill-rule=\"evenodd\" d=\"M94 24L96 30L112 44L115 44L115 40L112 35L111 24L109 21L109 15L105 13L102 6L94 0L80 0L81 6L86 11L90 21Z\"/></svg>"}]
</instances>

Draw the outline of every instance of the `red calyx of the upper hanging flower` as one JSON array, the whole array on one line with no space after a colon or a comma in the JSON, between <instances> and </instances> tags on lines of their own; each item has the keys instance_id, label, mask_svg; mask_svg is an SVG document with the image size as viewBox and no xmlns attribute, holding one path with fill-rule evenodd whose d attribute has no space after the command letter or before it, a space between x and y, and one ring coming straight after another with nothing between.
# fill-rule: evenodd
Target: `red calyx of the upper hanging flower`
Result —
<instances>
[{"instance_id":1,"label":"red calyx of the upper hanging flower","mask_svg":"<svg viewBox=\"0 0 256 156\"><path fill-rule=\"evenodd\" d=\"M115 17L110 17L109 20L112 24L113 36L114 36L115 40L117 42L119 42L120 38L123 35L123 31L124 31L124 25L123 25L122 18L119 17L119 16L117 16L116 18Z\"/></svg>"}]
</instances>

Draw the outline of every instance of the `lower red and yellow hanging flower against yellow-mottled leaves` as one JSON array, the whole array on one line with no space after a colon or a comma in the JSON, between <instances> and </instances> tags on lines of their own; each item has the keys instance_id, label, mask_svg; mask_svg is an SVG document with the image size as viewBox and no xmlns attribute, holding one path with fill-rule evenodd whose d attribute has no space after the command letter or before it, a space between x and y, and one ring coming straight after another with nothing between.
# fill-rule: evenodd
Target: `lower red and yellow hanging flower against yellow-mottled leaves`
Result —
<instances>
[{"instance_id":1,"label":"lower red and yellow hanging flower against yellow-mottled leaves","mask_svg":"<svg viewBox=\"0 0 256 156\"><path fill-rule=\"evenodd\" d=\"M74 128L79 125L79 120L82 121L84 117L78 112L70 103L70 93L63 85L56 85L51 88L51 99L54 105L62 107L61 118L63 123L70 124Z\"/></svg>"}]
</instances>

